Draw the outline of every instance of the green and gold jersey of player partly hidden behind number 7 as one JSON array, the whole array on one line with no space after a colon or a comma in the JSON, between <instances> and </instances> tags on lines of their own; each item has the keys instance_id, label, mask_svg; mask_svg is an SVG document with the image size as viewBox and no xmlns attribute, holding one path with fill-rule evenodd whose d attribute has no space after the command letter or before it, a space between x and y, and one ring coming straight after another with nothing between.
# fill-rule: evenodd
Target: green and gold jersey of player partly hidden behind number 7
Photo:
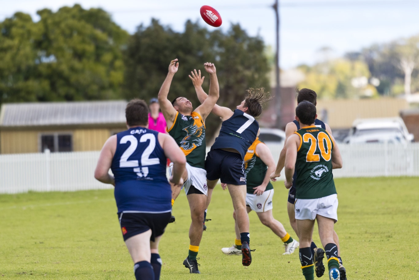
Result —
<instances>
[{"instance_id":1,"label":"green and gold jersey of player partly hidden behind number 7","mask_svg":"<svg viewBox=\"0 0 419 280\"><path fill-rule=\"evenodd\" d=\"M246 156L244 156L244 174L246 175L248 194L253 194L255 191L253 188L262 184L265 179L266 170L268 169L268 166L266 166L256 153L256 146L260 143L263 142L259 140L259 137L256 137L255 142L247 149ZM272 186L271 181L269 181L265 191L273 188L274 186Z\"/></svg>"}]
</instances>

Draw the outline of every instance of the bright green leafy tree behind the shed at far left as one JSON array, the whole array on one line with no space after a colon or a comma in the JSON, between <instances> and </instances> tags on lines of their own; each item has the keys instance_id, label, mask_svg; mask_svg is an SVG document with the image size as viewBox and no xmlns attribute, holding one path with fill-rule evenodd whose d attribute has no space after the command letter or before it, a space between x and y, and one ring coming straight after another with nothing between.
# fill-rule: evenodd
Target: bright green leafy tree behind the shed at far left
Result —
<instances>
[{"instance_id":1,"label":"bright green leafy tree behind the shed at far left","mask_svg":"<svg viewBox=\"0 0 419 280\"><path fill-rule=\"evenodd\" d=\"M104 10L16 13L0 23L0 102L121 98L129 34Z\"/></svg>"}]
</instances>

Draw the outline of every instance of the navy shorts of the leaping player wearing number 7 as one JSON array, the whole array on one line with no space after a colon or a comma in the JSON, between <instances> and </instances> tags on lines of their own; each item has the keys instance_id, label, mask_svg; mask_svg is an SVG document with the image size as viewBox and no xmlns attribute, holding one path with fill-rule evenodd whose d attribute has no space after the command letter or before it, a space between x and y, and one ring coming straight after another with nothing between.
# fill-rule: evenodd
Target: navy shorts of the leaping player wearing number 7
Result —
<instances>
[{"instance_id":1,"label":"navy shorts of the leaping player wearing number 7","mask_svg":"<svg viewBox=\"0 0 419 280\"><path fill-rule=\"evenodd\" d=\"M205 159L207 179L221 180L221 183L246 185L244 163L241 154L225 150L210 150Z\"/></svg>"}]
</instances>

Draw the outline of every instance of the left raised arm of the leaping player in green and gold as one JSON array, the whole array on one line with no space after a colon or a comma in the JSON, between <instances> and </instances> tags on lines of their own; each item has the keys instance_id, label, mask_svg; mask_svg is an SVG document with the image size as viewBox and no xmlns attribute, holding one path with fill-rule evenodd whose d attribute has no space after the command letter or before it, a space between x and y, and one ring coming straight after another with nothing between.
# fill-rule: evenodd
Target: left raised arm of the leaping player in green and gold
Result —
<instances>
[{"instance_id":1,"label":"left raised arm of the leaping player in green and gold","mask_svg":"<svg viewBox=\"0 0 419 280\"><path fill-rule=\"evenodd\" d=\"M169 94L173 76L178 71L179 62L177 61L178 59L176 58L170 62L169 72L167 73L166 79L158 92L158 103L160 105L161 112L166 119L167 127L172 127L176 117L176 110L173 108L171 101L167 99L167 95Z\"/></svg>"}]
</instances>

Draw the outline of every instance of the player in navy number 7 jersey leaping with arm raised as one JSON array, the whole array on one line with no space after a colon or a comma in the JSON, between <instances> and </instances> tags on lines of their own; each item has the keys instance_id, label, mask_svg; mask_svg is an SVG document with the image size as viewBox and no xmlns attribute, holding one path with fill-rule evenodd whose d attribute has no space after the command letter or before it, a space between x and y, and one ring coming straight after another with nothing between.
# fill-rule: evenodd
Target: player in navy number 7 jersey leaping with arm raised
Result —
<instances>
[{"instance_id":1,"label":"player in navy number 7 jersey leaping with arm raised","mask_svg":"<svg viewBox=\"0 0 419 280\"><path fill-rule=\"evenodd\" d=\"M199 101L204 102L207 94L202 88L196 87L195 89ZM208 185L207 206L211 200L212 190L220 179L221 183L227 184L233 201L237 226L240 231L242 264L244 266L250 265L252 261L249 247L249 216L246 209L244 156L259 133L259 123L255 117L259 117L261 114L262 104L272 99L269 93L264 92L264 88L250 88L247 93L248 96L234 111L217 104L212 109L212 113L222 119L222 124L220 133L205 160Z\"/></svg>"}]
</instances>

